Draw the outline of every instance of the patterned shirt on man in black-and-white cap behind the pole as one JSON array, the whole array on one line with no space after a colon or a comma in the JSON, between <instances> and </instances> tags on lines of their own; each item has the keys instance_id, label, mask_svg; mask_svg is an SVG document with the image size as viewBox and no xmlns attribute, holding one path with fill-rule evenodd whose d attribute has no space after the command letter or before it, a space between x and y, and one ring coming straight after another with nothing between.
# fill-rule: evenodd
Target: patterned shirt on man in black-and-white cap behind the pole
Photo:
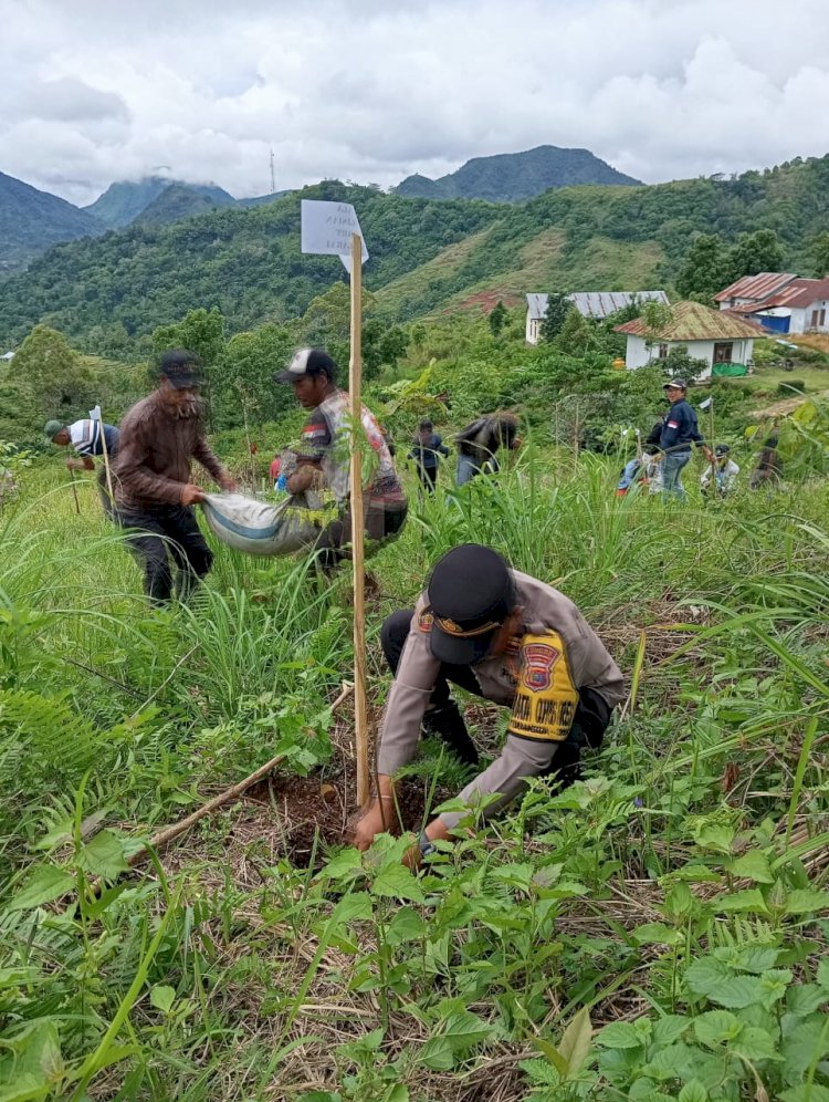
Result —
<instances>
[{"instance_id":1,"label":"patterned shirt on man in black-and-white cap behind the pole","mask_svg":"<svg viewBox=\"0 0 829 1102\"><path fill-rule=\"evenodd\" d=\"M302 454L319 461L327 486L339 505L350 492L348 454L348 418L350 397L336 387L311 413L302 432ZM361 406L363 430L377 459L377 467L368 488L370 505L375 508L399 507L406 500L395 470L388 444L375 415Z\"/></svg>"}]
</instances>

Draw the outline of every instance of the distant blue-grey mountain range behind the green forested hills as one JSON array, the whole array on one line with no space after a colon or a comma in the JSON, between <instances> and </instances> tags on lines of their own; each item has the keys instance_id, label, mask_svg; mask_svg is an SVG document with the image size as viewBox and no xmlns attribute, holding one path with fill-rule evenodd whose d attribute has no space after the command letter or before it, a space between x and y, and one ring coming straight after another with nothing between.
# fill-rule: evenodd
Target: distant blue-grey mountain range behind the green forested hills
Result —
<instances>
[{"instance_id":1,"label":"distant blue-grey mountain range behind the green forested hills","mask_svg":"<svg viewBox=\"0 0 829 1102\"><path fill-rule=\"evenodd\" d=\"M514 202L571 184L636 184L587 149L539 146L526 153L476 157L450 176L430 180L410 176L398 187L401 196L489 199ZM20 271L59 241L97 237L134 223L181 221L222 207L254 207L287 195L235 199L214 184L188 184L162 176L122 180L87 207L40 191L0 174L0 278Z\"/></svg>"}]
</instances>

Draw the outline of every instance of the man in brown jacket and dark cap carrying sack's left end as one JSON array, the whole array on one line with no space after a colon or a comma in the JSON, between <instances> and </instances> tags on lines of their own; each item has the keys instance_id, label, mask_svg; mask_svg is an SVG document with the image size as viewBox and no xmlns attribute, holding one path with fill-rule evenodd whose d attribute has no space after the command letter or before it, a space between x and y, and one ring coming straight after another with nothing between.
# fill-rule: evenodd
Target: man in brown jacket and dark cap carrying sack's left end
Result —
<instances>
[{"instance_id":1,"label":"man in brown jacket and dark cap carrying sack's left end","mask_svg":"<svg viewBox=\"0 0 829 1102\"><path fill-rule=\"evenodd\" d=\"M178 566L180 597L208 573L213 559L192 510L204 495L190 481L191 460L197 459L223 490L235 489L204 439L198 367L198 356L188 349L164 353L157 389L136 403L120 424L113 465L118 520L136 529L127 543L144 566L144 592L156 603L169 601L172 593L170 554Z\"/></svg>"}]
</instances>

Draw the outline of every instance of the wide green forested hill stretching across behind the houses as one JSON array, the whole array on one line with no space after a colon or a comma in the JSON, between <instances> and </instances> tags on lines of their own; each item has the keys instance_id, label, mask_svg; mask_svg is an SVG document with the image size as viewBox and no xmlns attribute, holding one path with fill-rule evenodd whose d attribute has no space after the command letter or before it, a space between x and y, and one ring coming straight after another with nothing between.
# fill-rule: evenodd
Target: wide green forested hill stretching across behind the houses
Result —
<instances>
[{"instance_id":1,"label":"wide green forested hill stretching across behind the houses","mask_svg":"<svg viewBox=\"0 0 829 1102\"><path fill-rule=\"evenodd\" d=\"M325 183L275 202L57 246L0 284L0 343L44 321L71 336L129 339L213 305L231 331L304 312L340 277L300 252L300 198L355 204L371 253L366 284L390 320L478 295L670 284L696 232L776 230L791 271L829 230L829 156L731 179L546 191L523 206L408 199ZM120 330L123 332L123 330Z\"/></svg>"}]
</instances>

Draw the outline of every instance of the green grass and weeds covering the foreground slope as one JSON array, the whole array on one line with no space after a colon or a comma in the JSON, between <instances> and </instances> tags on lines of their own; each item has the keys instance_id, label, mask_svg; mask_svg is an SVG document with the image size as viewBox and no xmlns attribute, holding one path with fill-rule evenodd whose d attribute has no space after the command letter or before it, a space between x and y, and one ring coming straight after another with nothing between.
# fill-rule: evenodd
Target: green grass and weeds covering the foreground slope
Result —
<instances>
[{"instance_id":1,"label":"green grass and weeds covering the foreground slope","mask_svg":"<svg viewBox=\"0 0 829 1102\"><path fill-rule=\"evenodd\" d=\"M0 1100L829 1098L829 488L744 478L706 505L692 466L682 509L617 499L619 466L527 447L457 503L412 486L371 560L374 725L382 617L461 541L571 596L628 684L584 782L534 783L419 876L390 836L291 860L285 779L353 782L347 578L218 547L189 606L153 611L92 481L77 516L62 467L23 471L0 518ZM464 704L496 752L504 709ZM460 783L427 746L427 803L436 779Z\"/></svg>"}]
</instances>

